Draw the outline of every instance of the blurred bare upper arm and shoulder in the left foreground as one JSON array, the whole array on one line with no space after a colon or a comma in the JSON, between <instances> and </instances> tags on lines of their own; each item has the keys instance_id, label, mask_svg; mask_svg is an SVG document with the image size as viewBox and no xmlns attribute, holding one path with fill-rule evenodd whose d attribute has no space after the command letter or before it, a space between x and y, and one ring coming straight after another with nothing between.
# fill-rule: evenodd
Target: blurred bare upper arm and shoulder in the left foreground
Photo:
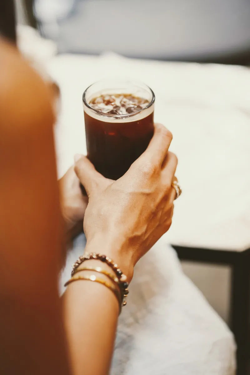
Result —
<instances>
[{"instance_id":1,"label":"blurred bare upper arm and shoulder in the left foreground","mask_svg":"<svg viewBox=\"0 0 250 375\"><path fill-rule=\"evenodd\" d=\"M61 228L49 92L0 42L2 374L69 375L57 275Z\"/></svg>"}]
</instances>

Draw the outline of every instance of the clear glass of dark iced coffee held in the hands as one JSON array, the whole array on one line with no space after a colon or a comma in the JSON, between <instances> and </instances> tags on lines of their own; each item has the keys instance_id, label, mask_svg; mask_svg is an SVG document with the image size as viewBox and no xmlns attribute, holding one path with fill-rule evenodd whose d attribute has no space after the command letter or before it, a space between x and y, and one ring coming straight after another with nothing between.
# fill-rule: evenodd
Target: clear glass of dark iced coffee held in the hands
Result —
<instances>
[{"instance_id":1,"label":"clear glass of dark iced coffee held in the hands","mask_svg":"<svg viewBox=\"0 0 250 375\"><path fill-rule=\"evenodd\" d=\"M103 80L83 93L87 156L117 180L146 150L154 133L154 93L135 81Z\"/></svg>"}]
</instances>

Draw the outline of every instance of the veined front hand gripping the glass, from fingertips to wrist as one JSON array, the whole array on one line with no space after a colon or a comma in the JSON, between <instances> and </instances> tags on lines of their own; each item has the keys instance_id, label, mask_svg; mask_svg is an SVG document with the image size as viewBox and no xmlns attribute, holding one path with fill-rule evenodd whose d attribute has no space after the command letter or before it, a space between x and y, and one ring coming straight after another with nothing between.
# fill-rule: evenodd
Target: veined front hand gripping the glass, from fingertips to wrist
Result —
<instances>
[{"instance_id":1,"label":"veined front hand gripping the glass, from fingertips to wrist","mask_svg":"<svg viewBox=\"0 0 250 375\"><path fill-rule=\"evenodd\" d=\"M172 134L160 124L147 150L117 181L99 174L86 157L75 172L88 195L84 216L87 252L113 258L129 279L133 267L169 229L177 157L168 152Z\"/></svg>"}]
</instances>

